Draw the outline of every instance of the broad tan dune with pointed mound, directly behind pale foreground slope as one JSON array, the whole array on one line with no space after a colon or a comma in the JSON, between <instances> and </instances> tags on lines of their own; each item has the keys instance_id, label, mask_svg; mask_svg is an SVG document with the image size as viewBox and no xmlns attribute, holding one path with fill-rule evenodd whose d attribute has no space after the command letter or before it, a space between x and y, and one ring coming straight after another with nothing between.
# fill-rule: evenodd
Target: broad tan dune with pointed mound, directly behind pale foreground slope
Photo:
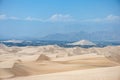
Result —
<instances>
[{"instance_id":1,"label":"broad tan dune with pointed mound, directly behind pale foreground slope","mask_svg":"<svg viewBox=\"0 0 120 80\"><path fill-rule=\"evenodd\" d=\"M64 61L63 58L59 58L59 59L56 58L56 60L55 59L48 60L48 59L49 59L48 57L42 54L42 56L38 57L37 61L15 63L14 66L11 69L9 69L9 72L11 74L8 74L8 71L4 71L7 73L6 77L4 78L120 66L116 62L112 62L103 56L94 55L94 54L71 56L68 59L64 58ZM2 73L2 75L3 74L4 73Z\"/></svg>"}]
</instances>

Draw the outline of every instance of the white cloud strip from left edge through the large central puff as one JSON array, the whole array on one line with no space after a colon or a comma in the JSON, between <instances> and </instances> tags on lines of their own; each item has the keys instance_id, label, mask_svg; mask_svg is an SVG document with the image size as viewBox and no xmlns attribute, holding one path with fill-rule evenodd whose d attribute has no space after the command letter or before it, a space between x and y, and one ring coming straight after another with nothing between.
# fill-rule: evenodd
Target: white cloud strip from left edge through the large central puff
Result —
<instances>
[{"instance_id":1,"label":"white cloud strip from left edge through the large central puff","mask_svg":"<svg viewBox=\"0 0 120 80\"><path fill-rule=\"evenodd\" d=\"M0 20L26 20L26 21L40 21L40 22L71 22L75 21L72 16L68 14L54 14L48 19L40 19L28 16L26 18L19 18L16 16L7 16L7 15L0 15Z\"/></svg>"}]
</instances>

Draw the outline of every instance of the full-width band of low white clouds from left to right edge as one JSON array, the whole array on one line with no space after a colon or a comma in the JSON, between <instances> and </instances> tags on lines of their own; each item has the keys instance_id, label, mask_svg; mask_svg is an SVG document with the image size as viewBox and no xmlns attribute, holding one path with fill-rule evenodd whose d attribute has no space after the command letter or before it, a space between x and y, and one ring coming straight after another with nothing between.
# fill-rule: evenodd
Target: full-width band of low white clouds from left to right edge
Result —
<instances>
[{"instance_id":1,"label":"full-width band of low white clouds from left to right edge","mask_svg":"<svg viewBox=\"0 0 120 80\"><path fill-rule=\"evenodd\" d=\"M109 23L119 23L120 22L120 16L116 15L108 15L104 18L94 18L94 19L86 19L86 20L76 20L69 14L53 14L47 19L41 19L36 17L25 17L20 18L16 16L7 16L5 14L0 15L0 20L24 20L24 21L40 21L40 22L95 22L95 23L103 23L103 22L109 22Z\"/></svg>"}]
</instances>

